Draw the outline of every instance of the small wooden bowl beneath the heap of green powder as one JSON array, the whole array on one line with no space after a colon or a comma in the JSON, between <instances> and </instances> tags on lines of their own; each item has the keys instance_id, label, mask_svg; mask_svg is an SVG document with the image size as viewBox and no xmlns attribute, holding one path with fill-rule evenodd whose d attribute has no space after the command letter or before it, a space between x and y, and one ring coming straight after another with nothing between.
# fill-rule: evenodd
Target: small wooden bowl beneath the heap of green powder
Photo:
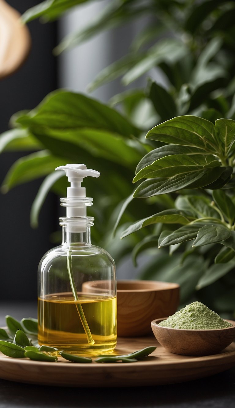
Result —
<instances>
[{"instance_id":1,"label":"small wooden bowl beneath the heap of green powder","mask_svg":"<svg viewBox=\"0 0 235 408\"><path fill-rule=\"evenodd\" d=\"M171 353L188 356L217 354L235 339L233 320L226 320L233 326L223 329L188 330L158 326L158 323L166 319L167 317L162 317L153 320L151 327L157 341Z\"/></svg>"}]
</instances>

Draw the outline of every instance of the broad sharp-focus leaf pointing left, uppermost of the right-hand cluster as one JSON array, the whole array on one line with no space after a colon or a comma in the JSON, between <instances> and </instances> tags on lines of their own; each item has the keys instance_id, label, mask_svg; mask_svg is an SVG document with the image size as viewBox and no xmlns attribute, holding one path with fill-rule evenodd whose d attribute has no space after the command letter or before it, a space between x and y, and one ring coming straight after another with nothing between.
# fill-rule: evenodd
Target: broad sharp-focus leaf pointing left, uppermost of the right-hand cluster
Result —
<instances>
[{"instance_id":1,"label":"broad sharp-focus leaf pointing left, uppermost of the right-hand cluster","mask_svg":"<svg viewBox=\"0 0 235 408\"><path fill-rule=\"evenodd\" d=\"M195 146L202 149L202 153L219 151L215 137L215 126L206 119L185 115L167 120L151 129L147 139L164 143Z\"/></svg>"}]
</instances>

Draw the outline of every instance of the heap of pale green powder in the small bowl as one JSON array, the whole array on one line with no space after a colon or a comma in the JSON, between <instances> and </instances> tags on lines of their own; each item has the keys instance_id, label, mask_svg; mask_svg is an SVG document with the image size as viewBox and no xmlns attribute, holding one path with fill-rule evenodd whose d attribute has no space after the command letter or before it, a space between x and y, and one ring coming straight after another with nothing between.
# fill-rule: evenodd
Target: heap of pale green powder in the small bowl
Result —
<instances>
[{"instance_id":1,"label":"heap of pale green powder in the small bowl","mask_svg":"<svg viewBox=\"0 0 235 408\"><path fill-rule=\"evenodd\" d=\"M232 326L224 321L217 313L201 302L193 302L179 310L174 315L163 320L158 326L175 329L222 329Z\"/></svg>"}]
</instances>

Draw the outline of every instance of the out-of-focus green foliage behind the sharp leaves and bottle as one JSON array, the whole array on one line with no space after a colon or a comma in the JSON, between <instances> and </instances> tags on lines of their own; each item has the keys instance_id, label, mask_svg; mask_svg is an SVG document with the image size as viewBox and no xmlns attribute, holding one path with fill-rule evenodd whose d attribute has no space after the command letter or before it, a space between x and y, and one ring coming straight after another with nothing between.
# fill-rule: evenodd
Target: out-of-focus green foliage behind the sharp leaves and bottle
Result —
<instances>
[{"instance_id":1,"label":"out-of-focus green foliage behind the sharp leaves and bottle","mask_svg":"<svg viewBox=\"0 0 235 408\"><path fill-rule=\"evenodd\" d=\"M25 23L35 18L53 21L71 7L84 3L85 0L47 0L26 11L23 20ZM187 190L184 188L180 193L175 189L141 199L132 198L132 179L139 162L144 166L153 163L141 162L146 154L151 160L169 154L166 153L169 145L164 151L166 141L157 137L144 138L151 127L182 115L195 115L212 124L218 118L235 119L234 2L115 0L108 2L101 15L87 27L64 38L53 52L58 55L102 31L128 25L133 20L138 25L143 17L146 24L144 27L140 24L141 29L129 52L102 70L88 85L89 92L92 92L120 78L127 90L113 95L109 104L88 95L58 90L47 95L33 111L13 115L11 130L0 138L1 150L29 148L35 152L13 164L2 189L8 191L18 184L46 176L31 209L31 225L35 227L48 191L52 189L59 196L65 195L65 177L54 173L54 168L68 162L85 162L103 176L99 189L92 180L86 182L87 191L91 192L95 202L93 241L104 246L117 264L127 253L132 252L134 262L140 254L147 255L137 277L179 282L182 304L199 299L219 313L231 315L235 310L233 248L230 248L230 255L215 261L221 249L221 244L217 244L222 241L219 236L217 241L208 240L207 245L204 242L203 246L195 248L191 248L191 241L190 245L177 242L169 251L168 248L158 249L157 242L162 234L166 236L164 231L180 228L180 222L169 222L166 228L163 219L152 219L152 225L137 228L131 235L123 231L136 220L172 208L189 211L190 214L184 215L193 217L193 220L200 217L200 211L203 217L203 211L208 216L208 208L216 211L211 209L211 190L224 186L231 173L229 169L221 185L209 186L212 182L208 182L200 185L200 190L191 190L190 187L194 186L188 184L185 186ZM135 86L143 75L147 75L146 86ZM230 125L233 132L232 121ZM167 143L174 144L171 154L192 154L178 151L178 144L170 139ZM198 147L197 143L193 146ZM163 149L160 156L151 153L159 148ZM207 153L203 151L204 157ZM226 165L231 167L231 161ZM140 167L141 164L138 169ZM208 188L202 190L201 187L205 186ZM235 201L231 188L224 194L231 202ZM198 206L204 203L208 207L206 210L192 209L189 202L195 203L197 196L202 200ZM186 203L185 208L179 204L180 200ZM216 205L219 207L218 202ZM225 228L228 230L227 225ZM127 236L120 240L122 234ZM218 261L223 263L214 263Z\"/></svg>"}]
</instances>

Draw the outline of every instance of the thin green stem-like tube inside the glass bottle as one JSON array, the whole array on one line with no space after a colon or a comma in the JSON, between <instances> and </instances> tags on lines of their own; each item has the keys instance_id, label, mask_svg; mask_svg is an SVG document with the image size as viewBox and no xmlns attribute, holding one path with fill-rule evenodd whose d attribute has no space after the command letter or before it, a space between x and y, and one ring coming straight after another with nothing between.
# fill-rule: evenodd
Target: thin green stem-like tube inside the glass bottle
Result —
<instances>
[{"instance_id":1,"label":"thin green stem-like tube inside the glass bottle","mask_svg":"<svg viewBox=\"0 0 235 408\"><path fill-rule=\"evenodd\" d=\"M74 300L79 301L76 285L75 285L74 278L73 278L72 256L71 255L72 255L72 251L71 251L71 249L68 249L68 252L67 252L67 269L68 269L68 273L69 273L69 282L70 282L70 286L71 286L71 289L72 289L72 292L73 292ZM82 305L80 303L76 303L75 305L76 305L76 308L78 310L78 314L79 314L82 326L83 326L84 331L86 333L87 342L88 342L88 344L94 344L95 341L92 338L91 330L89 329L88 323L86 321L86 317L84 315Z\"/></svg>"}]
</instances>

